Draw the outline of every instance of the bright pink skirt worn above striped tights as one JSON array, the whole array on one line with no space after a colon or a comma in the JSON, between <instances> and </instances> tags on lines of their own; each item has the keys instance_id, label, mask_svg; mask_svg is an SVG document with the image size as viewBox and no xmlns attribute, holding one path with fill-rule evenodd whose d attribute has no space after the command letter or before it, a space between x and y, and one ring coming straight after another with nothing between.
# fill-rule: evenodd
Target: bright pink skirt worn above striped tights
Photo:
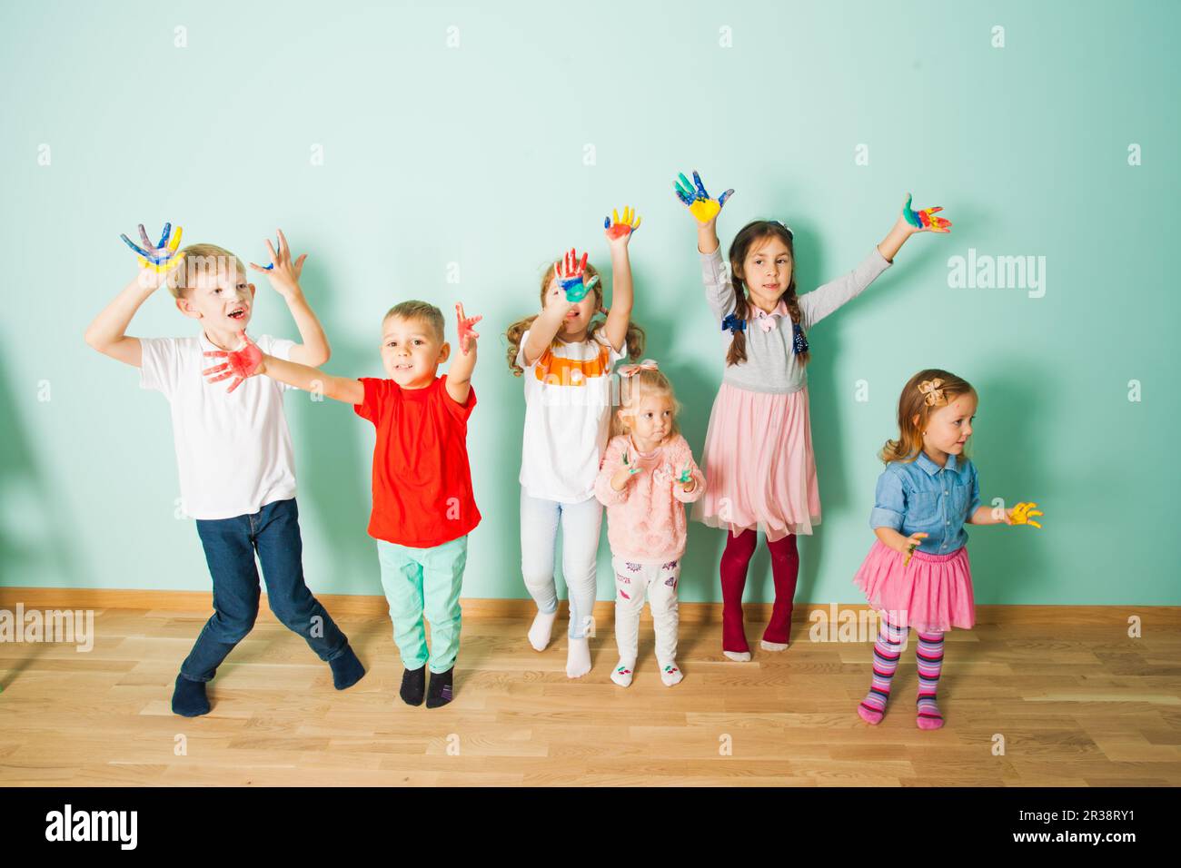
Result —
<instances>
[{"instance_id":1,"label":"bright pink skirt worn above striped tights","mask_svg":"<svg viewBox=\"0 0 1181 868\"><path fill-rule=\"evenodd\" d=\"M866 592L869 606L898 627L946 633L976 624L972 570L967 546L947 555L914 552L911 563L881 540L874 540L853 583Z\"/></svg>"}]
</instances>

